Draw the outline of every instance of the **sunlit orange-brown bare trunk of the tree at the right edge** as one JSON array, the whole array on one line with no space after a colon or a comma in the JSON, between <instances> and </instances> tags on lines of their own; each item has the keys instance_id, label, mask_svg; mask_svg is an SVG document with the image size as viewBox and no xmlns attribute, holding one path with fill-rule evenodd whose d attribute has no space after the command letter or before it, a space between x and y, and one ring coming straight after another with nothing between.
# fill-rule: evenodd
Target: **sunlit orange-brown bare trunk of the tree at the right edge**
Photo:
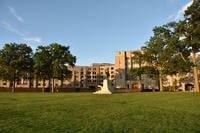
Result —
<instances>
[{"instance_id":1,"label":"sunlit orange-brown bare trunk of the tree at the right edge","mask_svg":"<svg viewBox=\"0 0 200 133\"><path fill-rule=\"evenodd\" d=\"M193 60L193 70L194 70L194 92L199 92L199 79L198 79L198 67L196 61L196 53L192 52L192 60Z\"/></svg>"}]
</instances>

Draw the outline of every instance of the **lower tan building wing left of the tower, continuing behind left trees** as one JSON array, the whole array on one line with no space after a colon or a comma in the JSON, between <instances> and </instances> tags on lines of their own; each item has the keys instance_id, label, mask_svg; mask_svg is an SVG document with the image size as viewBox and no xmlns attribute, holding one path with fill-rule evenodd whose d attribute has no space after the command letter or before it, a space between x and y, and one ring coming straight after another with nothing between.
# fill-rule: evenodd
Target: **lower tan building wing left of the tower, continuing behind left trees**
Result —
<instances>
[{"instance_id":1,"label":"lower tan building wing left of the tower, continuing behind left trees","mask_svg":"<svg viewBox=\"0 0 200 133\"><path fill-rule=\"evenodd\" d=\"M106 71L109 72L109 80L112 80L115 85L115 68L114 64L110 63L94 63L90 66L74 66L67 67L72 71L72 78L63 81L54 79L54 86L60 88L95 88L102 85L103 79L106 78ZM16 81L16 87L22 88L50 88L51 83L49 80L39 79L25 79L20 78ZM0 80L0 87L11 87L9 81Z\"/></svg>"}]
</instances>

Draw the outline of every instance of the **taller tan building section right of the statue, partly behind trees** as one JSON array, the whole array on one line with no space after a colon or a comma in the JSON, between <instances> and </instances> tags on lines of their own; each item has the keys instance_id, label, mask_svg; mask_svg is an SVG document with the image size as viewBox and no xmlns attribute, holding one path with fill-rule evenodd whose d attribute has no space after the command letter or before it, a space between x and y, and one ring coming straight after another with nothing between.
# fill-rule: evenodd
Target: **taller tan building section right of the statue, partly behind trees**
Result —
<instances>
[{"instance_id":1,"label":"taller tan building section right of the statue, partly behind trees","mask_svg":"<svg viewBox=\"0 0 200 133\"><path fill-rule=\"evenodd\" d=\"M148 75L142 75L141 84L139 83L139 79L132 79L132 77L130 76L129 70L131 68L139 67L139 64L134 60L134 54L137 52L143 51L129 50L117 51L115 53L115 71L117 77L116 88L139 89L141 88L141 85L143 85L144 88L158 89L158 82L149 78ZM142 66L147 65L148 64L145 62L143 62L142 64ZM198 66L200 72L200 63L198 64ZM184 79L185 81L179 82L181 79ZM191 90L188 88L191 88L191 86L193 86L193 73L188 73L186 76L177 74L174 76L166 75L165 77L163 77L163 86L169 87L174 85L177 86L179 90Z\"/></svg>"}]
</instances>

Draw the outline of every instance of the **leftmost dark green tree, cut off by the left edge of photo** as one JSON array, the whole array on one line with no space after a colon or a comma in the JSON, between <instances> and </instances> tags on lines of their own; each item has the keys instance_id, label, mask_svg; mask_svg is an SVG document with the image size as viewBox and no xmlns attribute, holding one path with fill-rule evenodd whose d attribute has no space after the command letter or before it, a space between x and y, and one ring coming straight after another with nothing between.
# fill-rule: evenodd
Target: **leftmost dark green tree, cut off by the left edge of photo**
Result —
<instances>
[{"instance_id":1,"label":"leftmost dark green tree, cut off by the left edge of photo","mask_svg":"<svg viewBox=\"0 0 200 133\"><path fill-rule=\"evenodd\" d=\"M30 75L33 65L32 56L32 49L27 44L5 44L0 50L0 78L12 83L12 92L15 92L17 77Z\"/></svg>"}]
</instances>

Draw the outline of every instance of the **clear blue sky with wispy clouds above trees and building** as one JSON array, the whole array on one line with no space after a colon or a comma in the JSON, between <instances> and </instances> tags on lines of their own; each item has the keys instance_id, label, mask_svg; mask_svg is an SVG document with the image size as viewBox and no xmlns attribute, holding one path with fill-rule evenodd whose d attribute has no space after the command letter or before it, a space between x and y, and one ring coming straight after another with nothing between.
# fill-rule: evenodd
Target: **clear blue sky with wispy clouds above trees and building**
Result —
<instances>
[{"instance_id":1,"label":"clear blue sky with wispy clouds above trees and building","mask_svg":"<svg viewBox=\"0 0 200 133\"><path fill-rule=\"evenodd\" d=\"M76 65L114 63L115 52L137 50L152 29L183 18L191 0L0 0L0 48L57 42Z\"/></svg>"}]
</instances>

